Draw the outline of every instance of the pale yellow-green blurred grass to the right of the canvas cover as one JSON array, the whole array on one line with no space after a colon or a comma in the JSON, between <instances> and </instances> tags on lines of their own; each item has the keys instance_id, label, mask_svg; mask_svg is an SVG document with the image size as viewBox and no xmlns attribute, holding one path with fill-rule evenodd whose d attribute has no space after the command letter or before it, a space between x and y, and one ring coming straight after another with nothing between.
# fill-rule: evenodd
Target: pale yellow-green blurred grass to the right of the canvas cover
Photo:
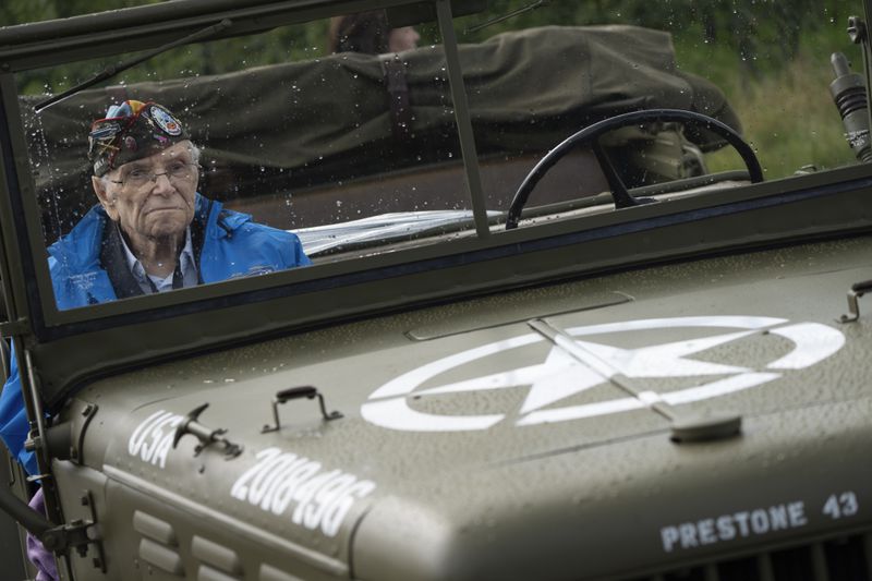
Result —
<instances>
[{"instance_id":1,"label":"pale yellow-green blurred grass to the right of the canvas cover","mask_svg":"<svg viewBox=\"0 0 872 581\"><path fill-rule=\"evenodd\" d=\"M775 49L761 51L753 66L723 47L681 38L676 39L676 52L682 70L713 81L727 95L741 120L742 135L771 180L806 166L822 170L857 162L829 94L834 51L845 52L853 71L862 73L860 52L843 31L829 26L810 32L792 59L780 58ZM708 154L706 164L711 171L741 167L729 147Z\"/></svg>"}]
</instances>

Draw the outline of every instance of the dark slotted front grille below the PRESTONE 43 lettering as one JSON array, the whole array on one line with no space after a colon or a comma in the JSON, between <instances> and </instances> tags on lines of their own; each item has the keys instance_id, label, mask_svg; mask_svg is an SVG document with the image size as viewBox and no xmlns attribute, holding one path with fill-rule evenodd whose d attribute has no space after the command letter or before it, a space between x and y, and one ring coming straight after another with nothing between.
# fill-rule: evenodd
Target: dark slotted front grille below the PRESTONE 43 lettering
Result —
<instances>
[{"instance_id":1,"label":"dark slotted front grille below the PRESTONE 43 lettering","mask_svg":"<svg viewBox=\"0 0 872 581\"><path fill-rule=\"evenodd\" d=\"M872 533L676 569L633 581L872 581Z\"/></svg>"}]
</instances>

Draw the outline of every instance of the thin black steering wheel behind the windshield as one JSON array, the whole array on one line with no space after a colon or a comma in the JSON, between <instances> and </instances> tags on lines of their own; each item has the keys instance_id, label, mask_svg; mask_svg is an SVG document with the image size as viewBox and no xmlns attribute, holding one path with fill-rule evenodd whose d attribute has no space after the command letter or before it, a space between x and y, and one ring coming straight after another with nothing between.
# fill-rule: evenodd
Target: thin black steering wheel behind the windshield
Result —
<instances>
[{"instance_id":1,"label":"thin black steering wheel behind the windshield","mask_svg":"<svg viewBox=\"0 0 872 581\"><path fill-rule=\"evenodd\" d=\"M748 169L748 174L751 178L751 183L763 181L763 169L760 167L760 161L758 160L756 155L754 155L753 149L751 149L751 146L748 145L748 143L746 143L741 136L729 125L726 125L716 119L712 119L708 116L680 109L646 109L644 111L633 111L630 113L610 117L589 125L578 133L570 135L557 147L548 152L548 154L543 157L538 164L536 164L536 167L534 167L530 173L526 174L526 178L524 178L524 181L521 183L518 192L514 193L514 197L511 201L511 205L509 206L509 211L506 217L506 230L513 230L514 228L518 228L518 221L521 219L521 210L526 204L526 201L530 197L530 194L533 192L533 189L538 184L540 180L545 175L545 173L547 173L547 171L552 169L552 167L554 167L554 165L560 159L562 159L562 157L573 147L586 144L588 142L593 142L591 148L593 149L594 155L596 155L596 160L600 164L600 168L603 170L606 181L611 189L611 199L615 202L615 208L626 208L642 204L643 202L640 202L630 195L627 186L620 179L620 175L618 175L615 166L611 165L611 161L608 159L605 150L600 145L600 137L602 137L605 133L614 131L618 128L655 121L676 121L681 123L690 123L692 125L700 125L707 129L708 131L723 137L741 156L742 161L744 161L746 168Z\"/></svg>"}]
</instances>

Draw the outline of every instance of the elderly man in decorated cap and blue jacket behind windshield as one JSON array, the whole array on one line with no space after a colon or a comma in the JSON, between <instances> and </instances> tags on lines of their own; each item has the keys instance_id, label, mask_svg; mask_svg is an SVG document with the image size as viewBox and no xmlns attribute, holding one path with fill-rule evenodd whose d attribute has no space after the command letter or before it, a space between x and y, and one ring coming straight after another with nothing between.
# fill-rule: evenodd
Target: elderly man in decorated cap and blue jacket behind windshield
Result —
<instances>
[{"instance_id":1,"label":"elderly man in decorated cap and blue jacket behind windshield","mask_svg":"<svg viewBox=\"0 0 872 581\"><path fill-rule=\"evenodd\" d=\"M182 124L155 102L109 108L88 134L98 205L48 249L59 308L126 299L308 265L295 234L223 209L197 191L199 150ZM28 473L28 422L15 358L0 394L0 436ZM41 492L32 506L41 509ZM37 579L57 577L35 540Z\"/></svg>"}]
</instances>

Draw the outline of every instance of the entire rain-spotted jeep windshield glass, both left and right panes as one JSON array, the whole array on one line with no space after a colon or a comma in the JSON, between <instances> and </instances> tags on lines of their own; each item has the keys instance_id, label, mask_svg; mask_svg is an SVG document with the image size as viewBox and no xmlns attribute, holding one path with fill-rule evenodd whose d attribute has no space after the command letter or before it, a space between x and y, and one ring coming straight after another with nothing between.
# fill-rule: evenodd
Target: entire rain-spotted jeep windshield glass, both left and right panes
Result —
<instances>
[{"instance_id":1,"label":"entire rain-spotted jeep windshield glass, both left and right panes","mask_svg":"<svg viewBox=\"0 0 872 581\"><path fill-rule=\"evenodd\" d=\"M543 232L590 214L632 219L615 209L615 175L646 202L759 181L725 133L667 116L567 147L512 202L558 144L640 110L714 119L766 181L869 156L835 104L865 120L862 57L846 33L857 1L477 8L451 38L435 10L398 7L191 43L38 113L142 53L16 73L59 308L494 244L514 210L522 230Z\"/></svg>"}]
</instances>

